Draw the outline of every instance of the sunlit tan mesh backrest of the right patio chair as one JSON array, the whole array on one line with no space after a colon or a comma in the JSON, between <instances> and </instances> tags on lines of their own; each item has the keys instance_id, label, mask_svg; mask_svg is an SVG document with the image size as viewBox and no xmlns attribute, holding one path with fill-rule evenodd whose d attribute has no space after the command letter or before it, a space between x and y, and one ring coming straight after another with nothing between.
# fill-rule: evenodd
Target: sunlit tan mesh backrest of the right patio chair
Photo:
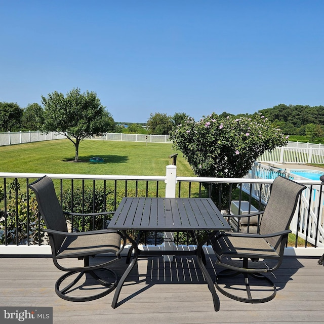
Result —
<instances>
[{"instance_id":1,"label":"sunlit tan mesh backrest of the right patio chair","mask_svg":"<svg viewBox=\"0 0 324 324\"><path fill-rule=\"evenodd\" d=\"M276 233L289 229L299 195L305 188L306 186L288 178L279 176L274 179L270 197L261 219L260 234ZM278 237L269 237L267 240L279 252ZM286 244L286 242L282 243Z\"/></svg>"}]
</instances>

